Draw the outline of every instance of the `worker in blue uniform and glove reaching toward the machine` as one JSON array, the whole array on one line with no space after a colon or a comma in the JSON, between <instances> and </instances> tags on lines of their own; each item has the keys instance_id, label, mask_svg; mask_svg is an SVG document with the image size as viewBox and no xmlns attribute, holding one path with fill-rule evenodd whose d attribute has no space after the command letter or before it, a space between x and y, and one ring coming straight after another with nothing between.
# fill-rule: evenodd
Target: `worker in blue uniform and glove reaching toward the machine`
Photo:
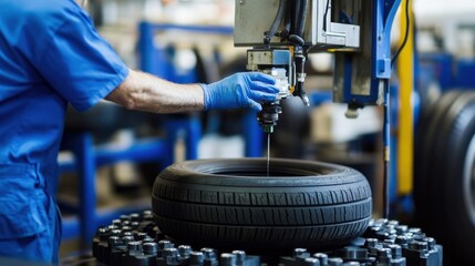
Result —
<instances>
[{"instance_id":1,"label":"worker in blue uniform and glove reaching toward the machine","mask_svg":"<svg viewBox=\"0 0 475 266\"><path fill-rule=\"evenodd\" d=\"M0 0L0 257L58 263L52 184L68 103L80 111L102 99L156 113L260 110L277 92L260 73L171 83L128 69L73 0Z\"/></svg>"}]
</instances>

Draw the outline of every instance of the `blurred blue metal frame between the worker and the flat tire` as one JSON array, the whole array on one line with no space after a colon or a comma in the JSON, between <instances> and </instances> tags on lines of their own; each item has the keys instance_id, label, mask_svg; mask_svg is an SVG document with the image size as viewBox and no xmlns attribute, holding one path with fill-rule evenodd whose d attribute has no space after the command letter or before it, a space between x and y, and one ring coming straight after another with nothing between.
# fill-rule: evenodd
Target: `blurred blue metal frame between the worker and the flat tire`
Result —
<instances>
[{"instance_id":1,"label":"blurred blue metal frame between the worker and the flat tire","mask_svg":"<svg viewBox=\"0 0 475 266\"><path fill-rule=\"evenodd\" d=\"M89 132L65 134L62 150L74 154L72 161L60 162L59 172L78 173L79 176L79 204L60 202L63 211L76 213L76 218L65 218L62 223L62 239L81 236L83 245L89 245L89 239L95 229L122 214L148 209L151 203L134 203L120 208L96 209L95 175L100 166L112 165L123 161L157 162L167 166L174 162L174 147L180 132L185 134L186 160L197 157L198 141L202 135L202 125L196 116L187 119L174 119L166 121L164 127L166 137L153 137L140 140L130 147L117 150L111 145L96 146L93 136Z\"/></svg>"}]
</instances>

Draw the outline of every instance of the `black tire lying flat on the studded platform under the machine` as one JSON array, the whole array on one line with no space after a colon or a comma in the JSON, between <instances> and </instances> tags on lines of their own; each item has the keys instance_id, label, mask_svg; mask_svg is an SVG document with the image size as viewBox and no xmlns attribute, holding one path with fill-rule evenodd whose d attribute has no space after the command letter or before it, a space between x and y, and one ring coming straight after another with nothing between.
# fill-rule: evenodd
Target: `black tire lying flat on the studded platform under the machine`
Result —
<instances>
[{"instance_id":1,"label":"black tire lying flat on the studded platform under the machine","mask_svg":"<svg viewBox=\"0 0 475 266\"><path fill-rule=\"evenodd\" d=\"M371 218L368 181L317 162L197 160L163 171L153 190L158 228L178 243L246 250L323 248L360 236Z\"/></svg>"}]
</instances>

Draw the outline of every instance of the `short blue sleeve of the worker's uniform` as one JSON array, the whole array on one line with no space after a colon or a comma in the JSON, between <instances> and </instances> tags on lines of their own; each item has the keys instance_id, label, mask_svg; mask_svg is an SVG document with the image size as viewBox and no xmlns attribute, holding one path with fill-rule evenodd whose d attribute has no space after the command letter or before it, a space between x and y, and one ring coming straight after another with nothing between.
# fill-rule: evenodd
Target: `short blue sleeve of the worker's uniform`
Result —
<instances>
[{"instance_id":1,"label":"short blue sleeve of the worker's uniform","mask_svg":"<svg viewBox=\"0 0 475 266\"><path fill-rule=\"evenodd\" d=\"M120 85L128 68L81 8L70 4L61 12L44 22L47 32L37 35L43 51L30 60L58 93L84 111Z\"/></svg>"}]
</instances>

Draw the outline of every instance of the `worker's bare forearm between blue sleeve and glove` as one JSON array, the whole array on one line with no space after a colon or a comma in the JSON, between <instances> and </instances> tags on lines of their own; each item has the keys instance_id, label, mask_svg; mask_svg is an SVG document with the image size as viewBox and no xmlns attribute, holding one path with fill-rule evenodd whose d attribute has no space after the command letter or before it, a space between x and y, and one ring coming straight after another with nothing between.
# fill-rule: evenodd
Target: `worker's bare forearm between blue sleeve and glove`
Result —
<instances>
[{"instance_id":1,"label":"worker's bare forearm between blue sleeve and glove","mask_svg":"<svg viewBox=\"0 0 475 266\"><path fill-rule=\"evenodd\" d=\"M124 82L105 99L130 110L153 113L205 109L203 89L198 84L172 83L135 70L130 70Z\"/></svg>"}]
</instances>

